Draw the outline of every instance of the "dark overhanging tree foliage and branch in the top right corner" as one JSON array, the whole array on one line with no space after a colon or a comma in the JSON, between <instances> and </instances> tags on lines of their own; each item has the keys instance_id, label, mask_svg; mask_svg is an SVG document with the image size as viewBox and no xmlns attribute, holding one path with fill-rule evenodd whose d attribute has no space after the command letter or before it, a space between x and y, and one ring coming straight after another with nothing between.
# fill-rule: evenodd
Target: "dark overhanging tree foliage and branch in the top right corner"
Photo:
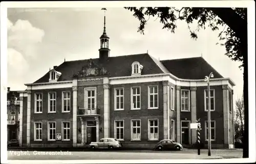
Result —
<instances>
[{"instance_id":1,"label":"dark overhanging tree foliage and branch in the top right corner","mask_svg":"<svg viewBox=\"0 0 256 164\"><path fill-rule=\"evenodd\" d=\"M245 8L175 8L175 7L125 7L125 9L133 12L133 16L138 18L140 25L138 32L144 34L145 25L150 17L156 17L163 25L163 29L167 29L175 33L177 28L177 21L183 20L187 23L190 36L197 39L197 33L206 27L211 28L212 31L223 31L219 34L219 39L224 41L221 45L225 46L226 53L231 60L243 62L242 49L247 46L247 12ZM148 16L148 19L145 17ZM236 22L232 22L236 19ZM197 22L197 28L191 29L190 25ZM227 27L227 28L226 28ZM246 29L246 30L245 30Z\"/></svg>"}]
</instances>

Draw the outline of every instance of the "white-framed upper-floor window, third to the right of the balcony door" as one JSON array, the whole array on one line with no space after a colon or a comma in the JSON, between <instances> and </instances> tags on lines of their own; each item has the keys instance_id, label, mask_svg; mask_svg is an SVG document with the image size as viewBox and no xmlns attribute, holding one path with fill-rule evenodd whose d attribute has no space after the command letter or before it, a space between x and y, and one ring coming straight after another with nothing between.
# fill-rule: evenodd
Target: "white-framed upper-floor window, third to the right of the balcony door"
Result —
<instances>
[{"instance_id":1,"label":"white-framed upper-floor window, third to the right of the balcony door","mask_svg":"<svg viewBox=\"0 0 256 164\"><path fill-rule=\"evenodd\" d=\"M158 86L148 86L148 108L158 108Z\"/></svg>"}]
</instances>

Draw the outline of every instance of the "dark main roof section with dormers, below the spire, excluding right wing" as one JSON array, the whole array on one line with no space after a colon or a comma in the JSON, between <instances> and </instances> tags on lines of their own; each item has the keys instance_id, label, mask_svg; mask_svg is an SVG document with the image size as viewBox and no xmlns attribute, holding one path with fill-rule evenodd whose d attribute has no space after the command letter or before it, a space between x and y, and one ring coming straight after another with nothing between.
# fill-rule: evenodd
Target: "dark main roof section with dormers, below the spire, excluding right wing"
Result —
<instances>
[{"instance_id":1,"label":"dark main roof section with dormers, below the spire, excluding right wing","mask_svg":"<svg viewBox=\"0 0 256 164\"><path fill-rule=\"evenodd\" d=\"M109 73L110 77L124 77L131 76L132 63L138 61L143 65L141 75L163 74L164 72L158 64L148 54L135 54L126 56L109 57L108 60L99 60L99 58L91 59L95 64L104 67ZM88 63L89 59L65 61L55 68L56 71L61 73L58 81L70 81L72 76L81 71L82 67ZM160 62L159 62L160 63ZM49 82L49 71L36 80L34 83Z\"/></svg>"}]
</instances>

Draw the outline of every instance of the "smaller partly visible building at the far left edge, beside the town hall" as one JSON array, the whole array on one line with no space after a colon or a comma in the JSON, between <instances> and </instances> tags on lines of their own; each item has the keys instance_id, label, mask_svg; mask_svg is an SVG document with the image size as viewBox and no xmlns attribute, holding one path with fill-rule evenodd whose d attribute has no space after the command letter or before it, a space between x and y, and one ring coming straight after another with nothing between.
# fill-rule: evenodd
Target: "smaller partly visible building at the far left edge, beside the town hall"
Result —
<instances>
[{"instance_id":1,"label":"smaller partly visible building at the far left edge, beside the town hall","mask_svg":"<svg viewBox=\"0 0 256 164\"><path fill-rule=\"evenodd\" d=\"M8 87L7 91L7 140L19 140L19 93L11 91Z\"/></svg>"}]
</instances>

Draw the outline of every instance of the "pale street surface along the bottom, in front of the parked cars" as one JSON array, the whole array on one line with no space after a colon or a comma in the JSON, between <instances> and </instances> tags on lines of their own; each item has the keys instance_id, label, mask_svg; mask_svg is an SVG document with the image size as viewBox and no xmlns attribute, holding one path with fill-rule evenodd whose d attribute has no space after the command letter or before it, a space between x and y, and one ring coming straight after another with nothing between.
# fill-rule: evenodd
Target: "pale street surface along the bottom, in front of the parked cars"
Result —
<instances>
[{"instance_id":1,"label":"pale street surface along the bottom, in front of the parked cars","mask_svg":"<svg viewBox=\"0 0 256 164\"><path fill-rule=\"evenodd\" d=\"M201 150L197 155L195 149L181 151L154 151L154 150L95 150L95 151L40 151L40 150L11 150L8 151L8 160L113 160L113 159L223 159L242 158L242 149L231 150Z\"/></svg>"}]
</instances>

